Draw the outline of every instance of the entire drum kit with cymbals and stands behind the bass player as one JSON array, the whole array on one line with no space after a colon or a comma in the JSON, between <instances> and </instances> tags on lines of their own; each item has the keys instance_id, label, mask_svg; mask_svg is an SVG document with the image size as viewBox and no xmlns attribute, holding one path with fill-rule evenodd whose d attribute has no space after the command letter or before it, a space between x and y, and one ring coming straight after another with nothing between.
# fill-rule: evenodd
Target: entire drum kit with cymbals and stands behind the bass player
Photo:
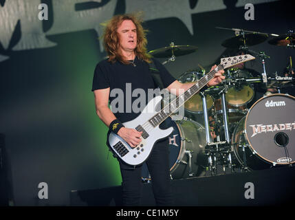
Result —
<instances>
[{"instance_id":1,"label":"entire drum kit with cymbals and stands behind the bass player","mask_svg":"<svg viewBox=\"0 0 295 220\"><path fill-rule=\"evenodd\" d=\"M220 29L232 30L237 35L221 45L260 58L263 72L253 76L243 67L226 69L222 83L195 94L184 104L184 118L171 120L174 128L169 136L171 179L241 173L295 163L295 97L281 93L281 89L295 86L292 58L287 72L270 77L265 71L268 56L248 48L267 41L270 36L273 36L268 40L270 45L295 48L295 34ZM168 58L165 65L177 56L196 51L195 46L171 43L149 54ZM177 80L197 82L204 74L201 67L184 72ZM263 88L262 98L254 100L255 88ZM146 165L142 168L142 180L151 180Z\"/></svg>"}]
</instances>

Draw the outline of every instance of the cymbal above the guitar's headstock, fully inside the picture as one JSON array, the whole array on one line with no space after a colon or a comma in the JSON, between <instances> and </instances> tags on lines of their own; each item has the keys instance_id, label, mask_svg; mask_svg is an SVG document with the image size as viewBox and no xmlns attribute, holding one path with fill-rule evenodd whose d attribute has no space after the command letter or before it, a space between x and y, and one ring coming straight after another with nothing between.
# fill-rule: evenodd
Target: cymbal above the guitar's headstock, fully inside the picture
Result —
<instances>
[{"instance_id":1,"label":"cymbal above the guitar's headstock, fully inside the picture","mask_svg":"<svg viewBox=\"0 0 295 220\"><path fill-rule=\"evenodd\" d=\"M267 34L244 34L245 39L243 35L234 36L231 39L227 39L226 41L223 41L221 45L223 47L228 48L236 48L239 46L252 46L259 43L263 43L263 41L266 41L268 38Z\"/></svg>"}]
</instances>

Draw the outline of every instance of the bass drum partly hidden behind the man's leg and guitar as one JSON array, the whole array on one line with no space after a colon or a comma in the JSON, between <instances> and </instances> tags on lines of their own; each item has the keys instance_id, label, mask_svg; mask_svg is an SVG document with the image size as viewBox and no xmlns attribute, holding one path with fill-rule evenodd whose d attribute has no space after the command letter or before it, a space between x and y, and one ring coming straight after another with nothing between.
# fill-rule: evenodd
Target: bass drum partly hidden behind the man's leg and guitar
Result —
<instances>
[{"instance_id":1,"label":"bass drum partly hidden behind the man's leg and guitar","mask_svg":"<svg viewBox=\"0 0 295 220\"><path fill-rule=\"evenodd\" d=\"M173 132L168 137L171 179L204 176L208 164L208 157L204 154L204 126L193 120L171 122ZM142 166L142 180L151 180L146 163Z\"/></svg>"}]
</instances>

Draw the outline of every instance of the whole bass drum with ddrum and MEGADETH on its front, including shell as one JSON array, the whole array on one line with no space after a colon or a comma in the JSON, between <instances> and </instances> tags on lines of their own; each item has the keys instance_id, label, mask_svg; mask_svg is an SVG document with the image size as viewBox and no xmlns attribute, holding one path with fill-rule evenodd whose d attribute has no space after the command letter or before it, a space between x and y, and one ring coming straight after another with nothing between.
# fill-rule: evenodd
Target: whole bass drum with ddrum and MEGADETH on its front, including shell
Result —
<instances>
[{"instance_id":1,"label":"whole bass drum with ddrum and MEGADETH on its front, including shell","mask_svg":"<svg viewBox=\"0 0 295 220\"><path fill-rule=\"evenodd\" d=\"M232 134L232 151L250 170L293 164L295 158L295 98L265 96L255 102Z\"/></svg>"}]
</instances>

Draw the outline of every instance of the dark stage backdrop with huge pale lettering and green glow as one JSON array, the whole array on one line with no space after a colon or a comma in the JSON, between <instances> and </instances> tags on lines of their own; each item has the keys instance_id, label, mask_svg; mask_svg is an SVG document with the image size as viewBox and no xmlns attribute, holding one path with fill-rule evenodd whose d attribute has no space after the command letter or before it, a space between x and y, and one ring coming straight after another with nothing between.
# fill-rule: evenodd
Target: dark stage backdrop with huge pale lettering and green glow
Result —
<instances>
[{"instance_id":1,"label":"dark stage backdrop with huge pale lettering and green glow","mask_svg":"<svg viewBox=\"0 0 295 220\"><path fill-rule=\"evenodd\" d=\"M47 21L38 20L40 3L48 5ZM254 4L253 21L244 18L245 3ZM210 67L226 50L221 43L234 32L215 27L275 34L295 29L292 1L1 0L0 133L6 135L11 204L69 206L71 190L120 185L91 83L106 56L99 24L135 11L144 12L148 50L171 42L199 47L166 65L176 78L198 64ZM267 74L282 74L289 56L295 59L294 49L267 41L250 49L270 56ZM247 67L262 72L259 59ZM48 199L38 197L41 182Z\"/></svg>"}]
</instances>

